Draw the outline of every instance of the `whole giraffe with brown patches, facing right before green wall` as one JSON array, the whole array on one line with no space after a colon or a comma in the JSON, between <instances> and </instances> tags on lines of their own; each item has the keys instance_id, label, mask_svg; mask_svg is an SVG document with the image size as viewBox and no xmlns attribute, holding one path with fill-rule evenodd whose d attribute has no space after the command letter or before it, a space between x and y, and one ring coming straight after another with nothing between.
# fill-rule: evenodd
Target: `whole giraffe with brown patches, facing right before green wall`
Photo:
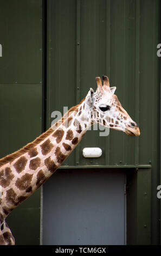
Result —
<instances>
[{"instance_id":1,"label":"whole giraffe with brown patches, facing right before green wall","mask_svg":"<svg viewBox=\"0 0 161 256\"><path fill-rule=\"evenodd\" d=\"M110 87L107 76L96 77L96 92L86 97L35 141L0 160L0 244L14 245L5 218L33 194L81 141L88 128L100 123L127 135L139 136L138 125L130 118Z\"/></svg>"}]
</instances>

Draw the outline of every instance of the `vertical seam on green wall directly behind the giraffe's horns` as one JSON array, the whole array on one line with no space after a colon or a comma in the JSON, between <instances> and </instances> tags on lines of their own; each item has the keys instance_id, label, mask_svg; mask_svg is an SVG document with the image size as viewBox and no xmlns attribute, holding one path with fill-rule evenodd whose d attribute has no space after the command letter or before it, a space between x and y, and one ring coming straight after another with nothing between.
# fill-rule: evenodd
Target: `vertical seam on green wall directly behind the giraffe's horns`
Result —
<instances>
[{"instance_id":1,"label":"vertical seam on green wall directly behind the giraffe's horns","mask_svg":"<svg viewBox=\"0 0 161 256\"><path fill-rule=\"evenodd\" d=\"M108 28L108 29L107 29ZM110 76L110 63L111 63L111 0L106 1L106 70L107 70L107 76L109 79ZM105 74L106 75L106 74ZM110 129L110 128L109 128ZM106 150L106 165L110 164L110 134L108 135L107 139L105 140L108 143L108 151Z\"/></svg>"}]
</instances>

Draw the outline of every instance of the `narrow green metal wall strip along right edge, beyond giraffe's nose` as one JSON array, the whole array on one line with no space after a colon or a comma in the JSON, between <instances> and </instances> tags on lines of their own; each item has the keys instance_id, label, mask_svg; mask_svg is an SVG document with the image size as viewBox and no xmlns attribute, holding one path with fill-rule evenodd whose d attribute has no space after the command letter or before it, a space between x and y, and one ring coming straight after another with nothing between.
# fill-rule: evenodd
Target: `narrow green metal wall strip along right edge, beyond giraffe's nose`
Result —
<instances>
[{"instance_id":1,"label":"narrow green metal wall strip along right edge, beyond giraffe's nose","mask_svg":"<svg viewBox=\"0 0 161 256\"><path fill-rule=\"evenodd\" d=\"M158 243L160 1L140 1L140 14L139 162L152 164L152 243Z\"/></svg>"}]
</instances>

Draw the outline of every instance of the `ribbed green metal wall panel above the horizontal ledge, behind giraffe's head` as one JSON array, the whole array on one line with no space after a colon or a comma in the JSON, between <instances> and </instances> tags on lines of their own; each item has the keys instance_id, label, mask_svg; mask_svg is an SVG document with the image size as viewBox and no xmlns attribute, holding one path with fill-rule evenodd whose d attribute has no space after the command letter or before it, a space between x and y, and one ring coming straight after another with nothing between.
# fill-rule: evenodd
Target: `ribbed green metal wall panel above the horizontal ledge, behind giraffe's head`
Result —
<instances>
[{"instance_id":1,"label":"ribbed green metal wall panel above the horizontal ledge, behind giraffe's head","mask_svg":"<svg viewBox=\"0 0 161 256\"><path fill-rule=\"evenodd\" d=\"M146 137L150 138L152 127L156 127L153 121L148 127L146 123L149 113L157 117L156 106L147 106L145 102L152 98L158 103L158 33L154 33L159 26L158 14L154 16L157 4L158 1L134 0L82 0L70 4L49 1L48 126L53 120L52 111L63 113L63 106L76 105L90 87L96 89L95 76L102 74L110 77L111 86L117 86L116 94L122 105L141 124L140 138L113 130L110 136L100 137L99 131L88 131L80 143L80 166L91 164L82 157L85 145L104 150L102 157L92 164L149 164L151 160L139 147L145 148ZM65 164L76 165L73 156L69 158Z\"/></svg>"}]
</instances>

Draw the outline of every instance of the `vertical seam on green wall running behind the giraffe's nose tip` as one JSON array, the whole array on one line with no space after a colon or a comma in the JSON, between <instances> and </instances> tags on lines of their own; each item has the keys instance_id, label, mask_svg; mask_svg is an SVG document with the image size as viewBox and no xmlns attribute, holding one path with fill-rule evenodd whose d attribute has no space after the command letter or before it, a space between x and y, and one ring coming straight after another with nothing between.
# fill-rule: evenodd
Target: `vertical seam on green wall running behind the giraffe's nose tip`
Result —
<instances>
[{"instance_id":1,"label":"vertical seam on green wall running behind the giraffe's nose tip","mask_svg":"<svg viewBox=\"0 0 161 256\"><path fill-rule=\"evenodd\" d=\"M140 0L136 1L136 84L135 119L139 123L139 85L140 85ZM139 164L139 139L135 138L135 164Z\"/></svg>"}]
</instances>

